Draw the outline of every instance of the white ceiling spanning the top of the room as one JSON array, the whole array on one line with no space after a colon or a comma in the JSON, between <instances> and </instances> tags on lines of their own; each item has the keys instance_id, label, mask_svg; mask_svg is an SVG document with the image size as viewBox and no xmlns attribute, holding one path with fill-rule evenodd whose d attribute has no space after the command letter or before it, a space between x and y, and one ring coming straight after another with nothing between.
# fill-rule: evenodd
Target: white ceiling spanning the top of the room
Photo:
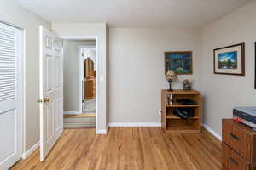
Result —
<instances>
[{"instance_id":1,"label":"white ceiling spanning the top of the room","mask_svg":"<svg viewBox=\"0 0 256 170\"><path fill-rule=\"evenodd\" d=\"M201 27L253 0L14 0L52 22L110 27Z\"/></svg>"}]
</instances>

